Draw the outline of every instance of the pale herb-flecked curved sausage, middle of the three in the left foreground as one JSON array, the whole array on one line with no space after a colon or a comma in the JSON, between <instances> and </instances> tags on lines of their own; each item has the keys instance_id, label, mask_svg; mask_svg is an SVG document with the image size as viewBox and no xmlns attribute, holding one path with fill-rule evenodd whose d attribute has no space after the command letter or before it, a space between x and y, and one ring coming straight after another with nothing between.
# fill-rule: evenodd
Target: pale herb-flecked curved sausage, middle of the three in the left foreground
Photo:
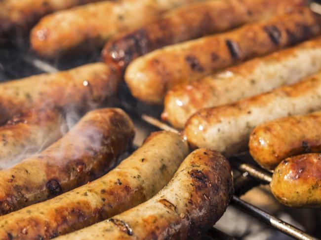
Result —
<instances>
[{"instance_id":1,"label":"pale herb-flecked curved sausage, middle of the three in the left foreground","mask_svg":"<svg viewBox=\"0 0 321 240\"><path fill-rule=\"evenodd\" d=\"M51 239L105 220L153 197L174 175L188 145L156 132L101 178L45 202L0 217L0 239ZM50 223L50 224L48 224Z\"/></svg>"}]
</instances>

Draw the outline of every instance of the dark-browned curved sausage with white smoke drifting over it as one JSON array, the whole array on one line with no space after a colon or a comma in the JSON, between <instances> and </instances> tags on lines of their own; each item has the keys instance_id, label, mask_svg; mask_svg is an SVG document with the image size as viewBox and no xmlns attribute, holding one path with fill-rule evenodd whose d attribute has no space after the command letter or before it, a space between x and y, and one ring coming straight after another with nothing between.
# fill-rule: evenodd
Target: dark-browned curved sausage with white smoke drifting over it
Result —
<instances>
[{"instance_id":1,"label":"dark-browned curved sausage with white smoke drifting over it","mask_svg":"<svg viewBox=\"0 0 321 240\"><path fill-rule=\"evenodd\" d=\"M120 109L88 112L48 148L0 171L0 214L32 205L93 180L131 143L134 126Z\"/></svg>"}]
</instances>

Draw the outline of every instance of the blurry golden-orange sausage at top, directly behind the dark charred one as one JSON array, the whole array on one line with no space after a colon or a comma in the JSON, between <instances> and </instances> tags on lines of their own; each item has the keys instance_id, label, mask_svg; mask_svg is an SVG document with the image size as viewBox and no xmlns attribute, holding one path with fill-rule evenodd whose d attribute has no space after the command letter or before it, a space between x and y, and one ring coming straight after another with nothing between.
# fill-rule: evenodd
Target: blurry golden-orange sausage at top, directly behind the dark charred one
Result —
<instances>
[{"instance_id":1,"label":"blurry golden-orange sausage at top, directly behind the dark charred one","mask_svg":"<svg viewBox=\"0 0 321 240\"><path fill-rule=\"evenodd\" d=\"M138 28L193 1L197 0L101 1L59 11L43 17L32 29L31 47L46 58L92 51L120 31Z\"/></svg>"}]
</instances>

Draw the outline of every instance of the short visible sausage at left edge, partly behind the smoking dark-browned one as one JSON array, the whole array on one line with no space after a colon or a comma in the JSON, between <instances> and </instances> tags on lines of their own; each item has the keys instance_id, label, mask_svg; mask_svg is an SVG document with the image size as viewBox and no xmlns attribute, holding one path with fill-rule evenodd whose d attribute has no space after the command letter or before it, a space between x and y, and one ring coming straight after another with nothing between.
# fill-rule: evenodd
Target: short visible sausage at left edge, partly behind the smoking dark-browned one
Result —
<instances>
[{"instance_id":1,"label":"short visible sausage at left edge, partly behind the smoking dark-browned one","mask_svg":"<svg viewBox=\"0 0 321 240\"><path fill-rule=\"evenodd\" d=\"M57 109L31 109L0 126L0 169L20 162L62 137L64 118Z\"/></svg>"}]
</instances>

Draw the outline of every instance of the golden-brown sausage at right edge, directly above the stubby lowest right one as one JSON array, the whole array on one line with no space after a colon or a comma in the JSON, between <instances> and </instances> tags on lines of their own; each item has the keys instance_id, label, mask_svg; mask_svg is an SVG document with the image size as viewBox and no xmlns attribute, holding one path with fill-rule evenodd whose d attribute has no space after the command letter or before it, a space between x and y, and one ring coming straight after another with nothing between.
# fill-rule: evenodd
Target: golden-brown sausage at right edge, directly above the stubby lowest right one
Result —
<instances>
[{"instance_id":1,"label":"golden-brown sausage at right edge, directly above the stubby lowest right one","mask_svg":"<svg viewBox=\"0 0 321 240\"><path fill-rule=\"evenodd\" d=\"M321 151L321 111L277 119L257 126L248 142L254 160L275 169L285 158Z\"/></svg>"}]
</instances>

